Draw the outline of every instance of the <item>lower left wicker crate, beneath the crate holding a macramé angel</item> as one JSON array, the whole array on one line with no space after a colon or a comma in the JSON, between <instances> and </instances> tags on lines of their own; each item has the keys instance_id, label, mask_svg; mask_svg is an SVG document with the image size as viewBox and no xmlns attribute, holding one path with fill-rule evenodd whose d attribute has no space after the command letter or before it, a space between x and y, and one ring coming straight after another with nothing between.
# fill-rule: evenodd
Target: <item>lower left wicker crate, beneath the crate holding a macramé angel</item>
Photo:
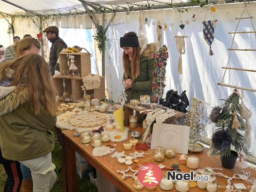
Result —
<instances>
[{"instance_id":1,"label":"lower left wicker crate, beneath the crate holding a macram\u00e9 angel","mask_svg":"<svg viewBox=\"0 0 256 192\"><path fill-rule=\"evenodd\" d=\"M64 100L64 98L62 97L63 92L64 92L64 87L63 87L63 79L65 79L65 91L70 93L70 97L72 100L72 79L69 78L52 78L52 81L55 85L55 88L57 90L57 94L60 96L60 100Z\"/></svg>"}]
</instances>

